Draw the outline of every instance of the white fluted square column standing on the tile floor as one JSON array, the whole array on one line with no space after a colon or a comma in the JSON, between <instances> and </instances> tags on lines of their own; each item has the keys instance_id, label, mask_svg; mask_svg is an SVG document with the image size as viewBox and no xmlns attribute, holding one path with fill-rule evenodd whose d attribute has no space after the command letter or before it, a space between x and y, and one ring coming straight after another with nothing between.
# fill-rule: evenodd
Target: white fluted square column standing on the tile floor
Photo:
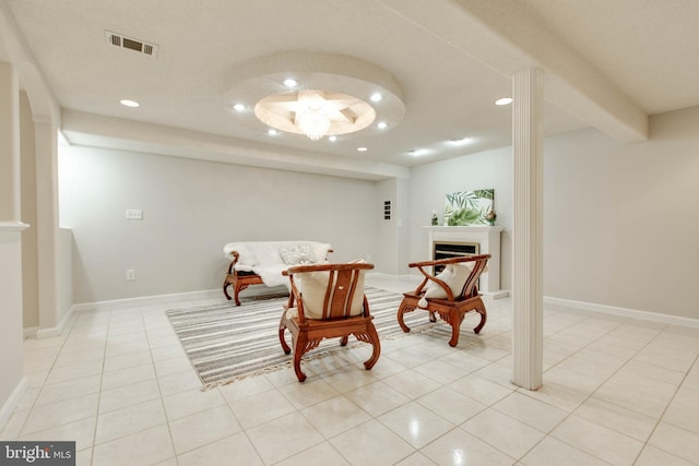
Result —
<instances>
[{"instance_id":1,"label":"white fluted square column standing on the tile floor","mask_svg":"<svg viewBox=\"0 0 699 466\"><path fill-rule=\"evenodd\" d=\"M528 390L543 384L543 191L544 106L542 71L512 76L512 383Z\"/></svg>"}]
</instances>

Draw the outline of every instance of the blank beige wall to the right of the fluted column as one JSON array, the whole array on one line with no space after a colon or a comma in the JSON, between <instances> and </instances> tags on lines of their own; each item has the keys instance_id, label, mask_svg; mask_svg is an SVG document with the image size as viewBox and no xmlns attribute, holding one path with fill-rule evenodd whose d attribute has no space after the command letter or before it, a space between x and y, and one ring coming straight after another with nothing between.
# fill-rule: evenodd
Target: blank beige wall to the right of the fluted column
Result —
<instances>
[{"instance_id":1,"label":"blank beige wall to the right of the fluted column","mask_svg":"<svg viewBox=\"0 0 699 466\"><path fill-rule=\"evenodd\" d=\"M544 294L699 319L699 107L546 141Z\"/></svg>"}]
</instances>

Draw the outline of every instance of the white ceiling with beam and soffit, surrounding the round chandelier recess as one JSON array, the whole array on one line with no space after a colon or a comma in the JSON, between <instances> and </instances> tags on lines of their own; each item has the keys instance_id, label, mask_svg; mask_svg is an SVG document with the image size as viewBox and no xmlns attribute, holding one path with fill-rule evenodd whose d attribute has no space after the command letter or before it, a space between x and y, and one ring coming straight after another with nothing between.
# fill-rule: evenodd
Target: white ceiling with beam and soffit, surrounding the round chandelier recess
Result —
<instances>
[{"instance_id":1,"label":"white ceiling with beam and soffit, surrounding the round chandelier recess","mask_svg":"<svg viewBox=\"0 0 699 466\"><path fill-rule=\"evenodd\" d=\"M509 145L511 107L494 100L532 65L546 72L547 135L593 126L642 140L648 115L699 105L696 0L0 1L76 144L378 179ZM115 48L106 31L157 55ZM229 108L232 76L286 51L382 68L402 89L403 121L330 143L240 120L254 117ZM473 140L446 143L458 138Z\"/></svg>"}]
</instances>

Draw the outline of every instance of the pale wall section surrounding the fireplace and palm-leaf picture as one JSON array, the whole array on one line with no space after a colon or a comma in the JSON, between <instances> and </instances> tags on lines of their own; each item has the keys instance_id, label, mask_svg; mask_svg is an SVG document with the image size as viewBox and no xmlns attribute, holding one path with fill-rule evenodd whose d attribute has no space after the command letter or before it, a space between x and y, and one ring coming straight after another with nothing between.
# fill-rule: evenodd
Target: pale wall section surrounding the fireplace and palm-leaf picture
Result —
<instances>
[{"instance_id":1,"label":"pale wall section surrounding the fireplace and palm-leaf picture","mask_svg":"<svg viewBox=\"0 0 699 466\"><path fill-rule=\"evenodd\" d=\"M447 193L495 189L496 225L505 228L500 236L500 288L512 288L512 148L505 147L466 155L450 160L414 167L410 180L408 262L429 260L427 232L433 211L441 225Z\"/></svg>"}]
</instances>

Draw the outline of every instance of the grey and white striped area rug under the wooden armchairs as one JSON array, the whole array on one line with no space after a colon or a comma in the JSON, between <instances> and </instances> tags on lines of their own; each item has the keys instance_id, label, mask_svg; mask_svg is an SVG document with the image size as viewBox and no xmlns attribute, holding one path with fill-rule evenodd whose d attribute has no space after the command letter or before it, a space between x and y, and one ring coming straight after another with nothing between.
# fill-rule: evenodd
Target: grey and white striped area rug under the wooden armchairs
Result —
<instances>
[{"instance_id":1,"label":"grey and white striped area rug under the wooden armchairs","mask_svg":"<svg viewBox=\"0 0 699 466\"><path fill-rule=\"evenodd\" d=\"M404 335L395 319L403 296L377 288L366 288L365 294L379 338ZM286 301L286 297L248 300L239 307L230 301L165 313L202 383L213 387L291 367L293 355L285 355L279 340L279 323ZM411 332L434 325L424 312L406 314L405 323ZM286 339L291 345L288 332ZM341 349L344 348L335 338L324 339L304 358L322 357Z\"/></svg>"}]
</instances>

